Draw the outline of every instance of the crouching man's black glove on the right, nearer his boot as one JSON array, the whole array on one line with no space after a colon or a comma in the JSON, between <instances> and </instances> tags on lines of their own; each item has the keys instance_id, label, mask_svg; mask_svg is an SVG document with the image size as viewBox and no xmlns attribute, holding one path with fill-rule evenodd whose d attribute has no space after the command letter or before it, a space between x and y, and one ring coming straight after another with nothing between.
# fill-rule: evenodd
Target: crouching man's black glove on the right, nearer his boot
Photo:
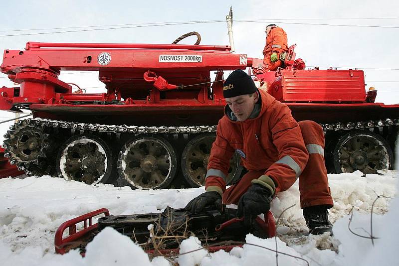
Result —
<instances>
[{"instance_id":1,"label":"crouching man's black glove on the right, nearer his boot","mask_svg":"<svg viewBox=\"0 0 399 266\"><path fill-rule=\"evenodd\" d=\"M244 225L250 227L256 216L270 210L271 200L270 189L252 184L238 201L237 217L244 217Z\"/></svg>"}]
</instances>

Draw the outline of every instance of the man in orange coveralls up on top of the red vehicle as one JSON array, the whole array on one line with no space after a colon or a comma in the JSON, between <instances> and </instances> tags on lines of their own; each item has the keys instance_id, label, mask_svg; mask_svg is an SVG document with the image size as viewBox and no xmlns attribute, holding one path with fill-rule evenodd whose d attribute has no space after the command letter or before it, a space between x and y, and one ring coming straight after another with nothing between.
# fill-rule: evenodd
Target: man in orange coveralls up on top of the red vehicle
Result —
<instances>
[{"instance_id":1,"label":"man in orange coveralls up on top of the red vehicle","mask_svg":"<svg viewBox=\"0 0 399 266\"><path fill-rule=\"evenodd\" d=\"M287 33L276 24L266 26L266 45L263 48L263 61L270 71L281 67L280 53L288 50Z\"/></svg>"}]
</instances>

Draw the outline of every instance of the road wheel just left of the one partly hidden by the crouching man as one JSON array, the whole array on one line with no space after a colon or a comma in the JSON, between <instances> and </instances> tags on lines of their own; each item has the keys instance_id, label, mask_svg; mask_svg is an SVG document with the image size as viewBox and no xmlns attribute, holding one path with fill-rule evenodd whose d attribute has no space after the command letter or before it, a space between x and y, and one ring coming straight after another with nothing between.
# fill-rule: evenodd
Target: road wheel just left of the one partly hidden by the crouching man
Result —
<instances>
[{"instance_id":1,"label":"road wheel just left of the one partly hidden by the crouching man","mask_svg":"<svg viewBox=\"0 0 399 266\"><path fill-rule=\"evenodd\" d=\"M140 136L122 147L118 156L118 184L133 188L166 188L177 170L176 152L161 136Z\"/></svg>"}]
</instances>

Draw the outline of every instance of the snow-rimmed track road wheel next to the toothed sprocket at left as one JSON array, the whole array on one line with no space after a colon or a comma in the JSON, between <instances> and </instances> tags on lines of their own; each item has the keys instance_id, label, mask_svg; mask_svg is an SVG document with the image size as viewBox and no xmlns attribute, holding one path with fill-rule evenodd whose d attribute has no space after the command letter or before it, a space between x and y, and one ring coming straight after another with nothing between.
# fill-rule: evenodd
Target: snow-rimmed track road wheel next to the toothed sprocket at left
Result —
<instances>
[{"instance_id":1,"label":"snow-rimmed track road wheel next to the toothed sprocket at left","mask_svg":"<svg viewBox=\"0 0 399 266\"><path fill-rule=\"evenodd\" d=\"M112 170L111 150L98 136L72 136L58 152L57 169L65 180L81 181L89 185L105 183Z\"/></svg>"}]
</instances>

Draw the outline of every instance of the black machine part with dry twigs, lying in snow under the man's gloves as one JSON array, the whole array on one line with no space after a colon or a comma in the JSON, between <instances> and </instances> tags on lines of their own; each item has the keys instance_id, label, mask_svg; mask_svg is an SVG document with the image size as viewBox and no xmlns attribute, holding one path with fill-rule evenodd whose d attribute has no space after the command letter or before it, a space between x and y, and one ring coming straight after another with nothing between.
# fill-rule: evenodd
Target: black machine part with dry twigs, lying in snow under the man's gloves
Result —
<instances>
[{"instance_id":1,"label":"black machine part with dry twigs, lying in snow under the man's gloves","mask_svg":"<svg viewBox=\"0 0 399 266\"><path fill-rule=\"evenodd\" d=\"M233 221L220 227L226 221ZM98 219L99 231L112 227L123 235L129 236L138 244L149 243L149 226L154 225L154 234L166 236L197 236L202 243L214 244L223 241L244 241L248 233L265 238L260 226L254 224L247 228L237 219L236 209L224 208L223 211L206 208L200 214L187 212L185 209L167 207L162 213L110 215ZM171 237L164 242L166 248L177 248L184 238Z\"/></svg>"}]
</instances>

